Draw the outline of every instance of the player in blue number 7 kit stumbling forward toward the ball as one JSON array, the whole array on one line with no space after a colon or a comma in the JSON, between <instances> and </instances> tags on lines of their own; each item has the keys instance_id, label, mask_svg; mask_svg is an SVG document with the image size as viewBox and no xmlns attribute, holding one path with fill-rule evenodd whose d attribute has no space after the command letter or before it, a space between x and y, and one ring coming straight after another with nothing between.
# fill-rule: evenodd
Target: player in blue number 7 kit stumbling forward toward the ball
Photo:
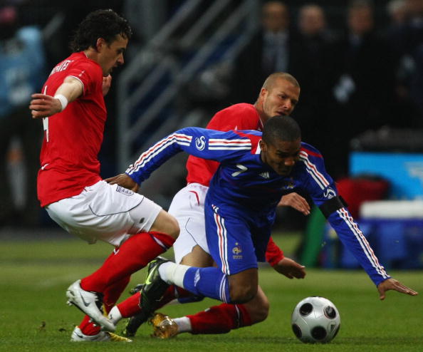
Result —
<instances>
[{"instance_id":1,"label":"player in blue number 7 kit stumbling forward toward the ball","mask_svg":"<svg viewBox=\"0 0 423 352\"><path fill-rule=\"evenodd\" d=\"M178 130L142 153L127 169L127 177L134 185L140 184L180 151L220 162L204 205L207 244L217 267L194 267L156 259L141 290L141 308L146 312L156 309L160 290L167 284L228 304L253 300L258 292L257 261L264 259L276 206L281 195L293 190L304 190L320 207L345 247L377 286L380 299L385 299L388 290L417 295L392 279L379 263L338 196L335 183L325 171L322 155L313 146L301 143L300 128L292 118L269 119L263 135L251 130L227 133L202 128ZM110 318L117 321L113 314ZM184 331L224 332L211 331L209 323L204 324L204 330L192 331L189 319L175 322L160 314L152 323L155 336L159 337Z\"/></svg>"}]
</instances>

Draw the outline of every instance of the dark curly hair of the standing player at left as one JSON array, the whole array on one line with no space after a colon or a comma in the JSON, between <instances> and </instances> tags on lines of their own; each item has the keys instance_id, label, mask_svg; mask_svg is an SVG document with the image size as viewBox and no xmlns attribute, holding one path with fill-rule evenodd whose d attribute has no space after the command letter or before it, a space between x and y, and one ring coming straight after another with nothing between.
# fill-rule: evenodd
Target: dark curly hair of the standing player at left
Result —
<instances>
[{"instance_id":1,"label":"dark curly hair of the standing player at left","mask_svg":"<svg viewBox=\"0 0 423 352\"><path fill-rule=\"evenodd\" d=\"M95 48L98 38L107 43L116 40L117 35L130 39L132 30L127 20L112 9L95 10L83 19L75 31L70 47L73 53L91 47Z\"/></svg>"}]
</instances>

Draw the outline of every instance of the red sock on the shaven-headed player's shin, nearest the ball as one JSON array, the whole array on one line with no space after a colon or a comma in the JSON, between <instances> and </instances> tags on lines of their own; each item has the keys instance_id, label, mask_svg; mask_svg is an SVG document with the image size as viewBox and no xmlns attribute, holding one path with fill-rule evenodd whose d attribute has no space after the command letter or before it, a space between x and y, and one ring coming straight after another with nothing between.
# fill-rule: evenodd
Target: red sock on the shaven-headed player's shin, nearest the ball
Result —
<instances>
[{"instance_id":1,"label":"red sock on the shaven-headed player's shin, nearest the ball","mask_svg":"<svg viewBox=\"0 0 423 352\"><path fill-rule=\"evenodd\" d=\"M251 325L250 314L243 304L223 303L187 317L191 321L191 333L228 333Z\"/></svg>"}]
</instances>

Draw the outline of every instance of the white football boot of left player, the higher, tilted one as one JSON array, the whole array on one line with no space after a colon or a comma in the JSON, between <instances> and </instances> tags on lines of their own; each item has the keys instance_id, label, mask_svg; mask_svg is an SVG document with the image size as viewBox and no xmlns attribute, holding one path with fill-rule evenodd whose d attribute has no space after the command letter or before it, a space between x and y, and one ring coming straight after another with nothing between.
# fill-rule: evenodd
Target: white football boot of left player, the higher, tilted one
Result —
<instances>
[{"instance_id":1,"label":"white football boot of left player, the higher, tilted one","mask_svg":"<svg viewBox=\"0 0 423 352\"><path fill-rule=\"evenodd\" d=\"M115 331L115 324L103 315L103 299L98 292L85 291L80 286L80 280L75 281L66 290L68 305L72 304L93 319L102 330Z\"/></svg>"}]
</instances>

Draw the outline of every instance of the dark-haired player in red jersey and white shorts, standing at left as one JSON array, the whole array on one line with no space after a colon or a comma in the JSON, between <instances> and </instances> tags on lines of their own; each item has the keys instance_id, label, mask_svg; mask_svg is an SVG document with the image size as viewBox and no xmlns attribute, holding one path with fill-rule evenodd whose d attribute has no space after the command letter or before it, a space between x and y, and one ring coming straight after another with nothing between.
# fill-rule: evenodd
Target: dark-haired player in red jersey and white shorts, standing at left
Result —
<instances>
[{"instance_id":1,"label":"dark-haired player in red jersey and white shorts, standing at left","mask_svg":"<svg viewBox=\"0 0 423 352\"><path fill-rule=\"evenodd\" d=\"M124 63L131 34L113 10L88 14L75 32L73 53L53 68L29 105L32 117L43 119L41 206L71 234L115 247L100 269L66 292L68 303L87 314L72 341L119 339L108 332L115 326L103 316L103 304L109 311L130 275L171 247L179 234L176 219L159 205L100 177L98 152L107 117L103 95L113 68Z\"/></svg>"}]
</instances>

